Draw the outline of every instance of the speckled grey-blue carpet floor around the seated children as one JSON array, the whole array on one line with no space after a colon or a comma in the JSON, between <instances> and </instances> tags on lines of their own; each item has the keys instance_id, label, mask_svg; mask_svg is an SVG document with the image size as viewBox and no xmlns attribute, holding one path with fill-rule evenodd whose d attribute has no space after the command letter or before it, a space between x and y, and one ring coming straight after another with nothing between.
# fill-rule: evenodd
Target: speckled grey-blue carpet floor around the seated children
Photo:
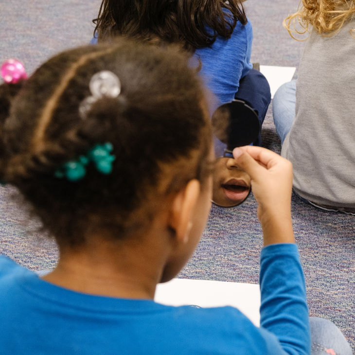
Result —
<instances>
[{"instance_id":1,"label":"speckled grey-blue carpet floor around the seated children","mask_svg":"<svg viewBox=\"0 0 355 355\"><path fill-rule=\"evenodd\" d=\"M57 51L91 38L91 19L100 0L0 2L0 62L16 57L32 72ZM293 40L282 20L298 0L248 0L254 28L252 61L298 66L303 43ZM297 72L296 72L297 75ZM264 146L280 152L271 106L263 128ZM0 187L0 252L32 269L55 265L51 240L28 222L21 203ZM292 197L294 230L301 250L311 316L334 321L355 348L355 217L321 212ZM213 206L207 229L180 277L258 283L261 228L252 195L239 207Z\"/></svg>"}]
</instances>

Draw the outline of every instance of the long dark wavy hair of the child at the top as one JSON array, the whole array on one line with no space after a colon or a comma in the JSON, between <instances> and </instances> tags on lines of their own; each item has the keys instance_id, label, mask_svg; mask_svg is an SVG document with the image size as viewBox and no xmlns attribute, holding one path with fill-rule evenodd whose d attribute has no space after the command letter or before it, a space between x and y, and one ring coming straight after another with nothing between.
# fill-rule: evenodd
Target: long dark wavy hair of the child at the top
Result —
<instances>
[{"instance_id":1,"label":"long dark wavy hair of the child at the top","mask_svg":"<svg viewBox=\"0 0 355 355\"><path fill-rule=\"evenodd\" d=\"M244 0L243 0L244 1ZM182 43L194 52L218 35L230 38L237 21L247 23L241 0L103 0L94 35Z\"/></svg>"}]
</instances>

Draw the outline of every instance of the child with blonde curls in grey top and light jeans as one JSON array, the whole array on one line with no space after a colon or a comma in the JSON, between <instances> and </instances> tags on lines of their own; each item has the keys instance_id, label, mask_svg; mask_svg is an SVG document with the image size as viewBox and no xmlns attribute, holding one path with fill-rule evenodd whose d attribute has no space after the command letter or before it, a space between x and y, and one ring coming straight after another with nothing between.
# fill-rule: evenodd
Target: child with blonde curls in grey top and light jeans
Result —
<instances>
[{"instance_id":1,"label":"child with blonde curls in grey top and light jeans","mask_svg":"<svg viewBox=\"0 0 355 355\"><path fill-rule=\"evenodd\" d=\"M302 0L284 25L308 34L297 81L275 94L273 114L293 188L320 209L355 214L355 1Z\"/></svg>"}]
</instances>

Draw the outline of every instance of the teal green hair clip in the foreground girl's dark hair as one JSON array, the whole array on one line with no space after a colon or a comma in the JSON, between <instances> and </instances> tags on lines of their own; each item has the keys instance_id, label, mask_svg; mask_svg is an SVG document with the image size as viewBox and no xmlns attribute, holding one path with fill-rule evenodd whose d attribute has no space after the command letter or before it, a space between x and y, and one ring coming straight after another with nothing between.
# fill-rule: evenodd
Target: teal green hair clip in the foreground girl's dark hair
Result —
<instances>
[{"instance_id":1,"label":"teal green hair clip in the foreground girl's dark hair","mask_svg":"<svg viewBox=\"0 0 355 355\"><path fill-rule=\"evenodd\" d=\"M112 172L112 162L116 159L111 155L113 146L110 142L97 144L89 150L86 156L81 155L76 160L70 160L64 163L54 176L58 178L66 177L69 181L78 181L85 177L86 166L92 162L97 171L101 174L108 175Z\"/></svg>"}]
</instances>

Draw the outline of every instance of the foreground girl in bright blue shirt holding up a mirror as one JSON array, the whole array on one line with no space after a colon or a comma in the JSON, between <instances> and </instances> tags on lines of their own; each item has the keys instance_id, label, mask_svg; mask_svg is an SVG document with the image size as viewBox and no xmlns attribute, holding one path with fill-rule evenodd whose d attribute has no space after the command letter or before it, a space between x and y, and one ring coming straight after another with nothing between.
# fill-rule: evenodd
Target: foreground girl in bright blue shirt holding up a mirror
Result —
<instances>
[{"instance_id":1,"label":"foreground girl in bright blue shirt holding up a mirror","mask_svg":"<svg viewBox=\"0 0 355 355\"><path fill-rule=\"evenodd\" d=\"M0 86L0 179L59 247L41 278L0 257L1 351L309 354L292 168L264 148L233 152L264 233L261 327L232 307L154 302L156 285L190 258L211 207L211 123L187 62L176 48L120 38L60 53L28 80Z\"/></svg>"}]
</instances>

